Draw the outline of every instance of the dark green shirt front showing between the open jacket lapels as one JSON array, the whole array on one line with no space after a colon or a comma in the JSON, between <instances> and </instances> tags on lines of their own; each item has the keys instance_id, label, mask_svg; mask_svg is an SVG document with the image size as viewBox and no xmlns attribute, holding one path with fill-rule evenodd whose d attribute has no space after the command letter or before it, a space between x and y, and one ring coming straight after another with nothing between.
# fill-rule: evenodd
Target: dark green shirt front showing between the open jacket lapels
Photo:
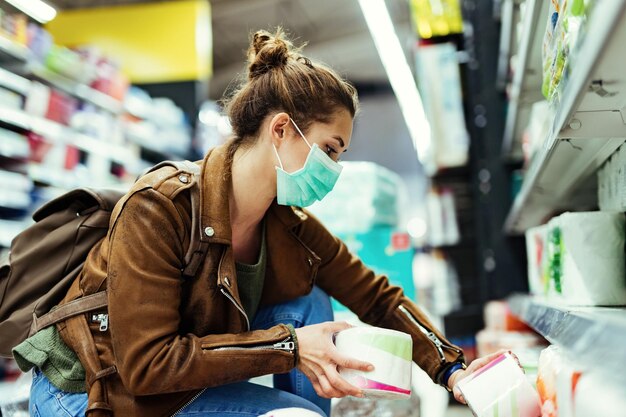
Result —
<instances>
[{"instance_id":1,"label":"dark green shirt front showing between the open jacket lapels","mask_svg":"<svg viewBox=\"0 0 626 417\"><path fill-rule=\"evenodd\" d=\"M261 250L259 251L259 259L256 264L249 265L236 262L235 269L237 271L237 289L239 290L239 298L243 309L248 315L250 322L254 320L254 316L261 302L261 294L263 293L263 283L265 282L265 269L267 266L267 251L265 248L265 222L263 223L263 234L261 236Z\"/></svg>"}]
</instances>

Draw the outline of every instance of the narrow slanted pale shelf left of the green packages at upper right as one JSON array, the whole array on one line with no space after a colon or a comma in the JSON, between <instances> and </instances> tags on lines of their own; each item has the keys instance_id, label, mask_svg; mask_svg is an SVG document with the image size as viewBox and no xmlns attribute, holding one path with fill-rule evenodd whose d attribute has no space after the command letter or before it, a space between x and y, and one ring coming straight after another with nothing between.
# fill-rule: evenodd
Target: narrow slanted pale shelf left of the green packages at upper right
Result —
<instances>
[{"instance_id":1,"label":"narrow slanted pale shelf left of the green packages at upper right","mask_svg":"<svg viewBox=\"0 0 626 417\"><path fill-rule=\"evenodd\" d=\"M530 108L533 103L543 99L541 95L543 75L541 45L545 34L549 3L543 0L527 0L525 4L523 29L517 51L518 61L511 86L502 142L502 151L507 160L522 159L521 136L530 119Z\"/></svg>"}]
</instances>

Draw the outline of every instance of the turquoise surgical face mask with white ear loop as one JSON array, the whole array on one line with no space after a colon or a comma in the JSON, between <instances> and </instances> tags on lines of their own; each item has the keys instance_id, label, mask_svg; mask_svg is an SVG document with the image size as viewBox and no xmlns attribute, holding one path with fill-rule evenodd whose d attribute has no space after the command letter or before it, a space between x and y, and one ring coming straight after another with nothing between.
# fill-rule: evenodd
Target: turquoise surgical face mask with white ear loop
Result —
<instances>
[{"instance_id":1,"label":"turquoise surgical face mask with white ear loop","mask_svg":"<svg viewBox=\"0 0 626 417\"><path fill-rule=\"evenodd\" d=\"M311 150L304 166L289 173L283 169L274 146L280 164L280 167L276 167L277 200L283 206L308 207L316 200L322 200L333 189L343 167L326 155L316 143L311 146L295 122L291 120L291 123Z\"/></svg>"}]
</instances>

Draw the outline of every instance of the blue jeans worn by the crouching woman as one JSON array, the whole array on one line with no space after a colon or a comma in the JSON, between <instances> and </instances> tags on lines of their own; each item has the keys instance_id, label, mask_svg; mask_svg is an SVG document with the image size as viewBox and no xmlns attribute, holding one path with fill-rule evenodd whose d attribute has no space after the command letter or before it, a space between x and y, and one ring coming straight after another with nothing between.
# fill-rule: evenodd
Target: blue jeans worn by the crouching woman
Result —
<instances>
[{"instance_id":1,"label":"blue jeans worn by the crouching woman","mask_svg":"<svg viewBox=\"0 0 626 417\"><path fill-rule=\"evenodd\" d=\"M260 309L252 329L267 329L276 324L302 327L333 319L330 298L319 288L311 294L282 304ZM179 416L250 417L278 408L299 407L330 416L330 400L319 397L311 382L294 369L287 374L274 375L274 388L250 382L238 382L206 389ZM31 416L83 416L87 408L86 393L61 391L35 369L30 391Z\"/></svg>"}]
</instances>

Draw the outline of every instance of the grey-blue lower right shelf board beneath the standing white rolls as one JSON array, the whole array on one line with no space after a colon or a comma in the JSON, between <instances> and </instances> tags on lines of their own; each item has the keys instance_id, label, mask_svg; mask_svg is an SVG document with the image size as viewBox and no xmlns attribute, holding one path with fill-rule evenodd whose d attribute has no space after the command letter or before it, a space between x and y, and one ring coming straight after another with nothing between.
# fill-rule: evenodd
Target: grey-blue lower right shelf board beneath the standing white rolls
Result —
<instances>
[{"instance_id":1,"label":"grey-blue lower right shelf board beneath the standing white rolls","mask_svg":"<svg viewBox=\"0 0 626 417\"><path fill-rule=\"evenodd\" d=\"M509 305L513 314L581 365L614 374L616 364L626 363L624 307L557 306L524 295L511 297Z\"/></svg>"}]
</instances>

